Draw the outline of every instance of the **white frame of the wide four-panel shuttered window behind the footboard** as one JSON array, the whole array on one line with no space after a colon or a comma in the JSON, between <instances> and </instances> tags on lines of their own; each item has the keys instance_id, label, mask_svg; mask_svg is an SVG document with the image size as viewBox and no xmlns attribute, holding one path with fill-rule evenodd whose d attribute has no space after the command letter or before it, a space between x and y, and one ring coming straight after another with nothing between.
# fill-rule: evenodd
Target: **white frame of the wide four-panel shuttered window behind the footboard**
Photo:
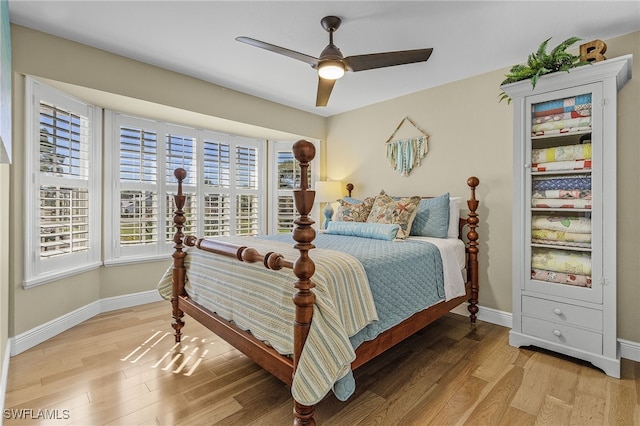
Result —
<instances>
[{"instance_id":1,"label":"white frame of the wide four-panel shuttered window behind the footboard","mask_svg":"<svg viewBox=\"0 0 640 426\"><path fill-rule=\"evenodd\" d=\"M120 161L120 128L121 124L129 126L154 128L157 129L157 170L156 170L156 187L157 189L157 212L158 212L158 236L156 244L148 246L132 245L123 247L120 244L120 191L122 184L119 177L119 161ZM257 138L248 138L238 135L229 135L214 130L197 129L174 123L167 123L149 118L139 117L132 114L126 114L117 111L105 110L105 135L106 146L108 149L105 159L105 181L111 182L111 187L105 190L105 240L110 244L105 244L105 265L117 265L126 263L148 262L152 260L167 259L173 247L173 222L172 216L169 220L165 216L169 211L173 212L173 199L168 195L173 195L177 191L177 180L173 177L173 170L167 170L166 164L166 144L165 136L174 134L179 136L188 136L195 139L194 157L195 164L193 167L185 167L187 170L187 179L183 183L183 192L185 194L194 194L193 200L196 206L196 227L195 235L205 235L204 209L205 197L212 194L225 194L229 197L229 226L230 233L233 235L236 227L235 221L238 217L236 211L237 195L255 195L258 199L258 222L257 233L264 233L266 230L267 217L266 210L268 200L267 194L267 167L265 167L267 141ZM205 140L214 143L229 145L229 179L228 188L216 188L214 186L206 186L204 184L204 150ZM236 147L255 148L257 172L255 175L258 183L257 189L237 188L235 183ZM151 188L149 185L148 188ZM110 206L110 208L109 208ZM185 232L191 233L191 232Z\"/></svg>"}]
</instances>

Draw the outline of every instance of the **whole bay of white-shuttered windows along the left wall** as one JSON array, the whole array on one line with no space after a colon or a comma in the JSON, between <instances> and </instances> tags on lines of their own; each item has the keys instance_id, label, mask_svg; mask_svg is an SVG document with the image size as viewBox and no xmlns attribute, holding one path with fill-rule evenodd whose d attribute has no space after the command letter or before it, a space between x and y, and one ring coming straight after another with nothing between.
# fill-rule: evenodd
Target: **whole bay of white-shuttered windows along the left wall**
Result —
<instances>
[{"instance_id":1,"label":"whole bay of white-shuttered windows along the left wall","mask_svg":"<svg viewBox=\"0 0 640 426\"><path fill-rule=\"evenodd\" d=\"M103 126L100 108L30 77L26 81L25 288L96 268L101 260L167 259L178 167L187 171L185 234L258 235L293 228L292 191L300 169L292 142L113 111L105 111ZM317 164L316 159L313 181ZM274 177L267 179L268 173Z\"/></svg>"}]
</instances>

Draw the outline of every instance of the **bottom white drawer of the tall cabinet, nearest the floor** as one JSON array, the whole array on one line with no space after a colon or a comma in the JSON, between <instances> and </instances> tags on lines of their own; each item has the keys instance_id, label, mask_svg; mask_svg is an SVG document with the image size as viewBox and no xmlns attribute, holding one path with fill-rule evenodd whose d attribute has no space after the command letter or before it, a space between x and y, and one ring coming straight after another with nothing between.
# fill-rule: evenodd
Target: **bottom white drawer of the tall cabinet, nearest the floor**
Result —
<instances>
[{"instance_id":1,"label":"bottom white drawer of the tall cabinet, nearest the floor","mask_svg":"<svg viewBox=\"0 0 640 426\"><path fill-rule=\"evenodd\" d=\"M522 332L548 342L602 354L602 334L593 331L523 316Z\"/></svg>"}]
</instances>

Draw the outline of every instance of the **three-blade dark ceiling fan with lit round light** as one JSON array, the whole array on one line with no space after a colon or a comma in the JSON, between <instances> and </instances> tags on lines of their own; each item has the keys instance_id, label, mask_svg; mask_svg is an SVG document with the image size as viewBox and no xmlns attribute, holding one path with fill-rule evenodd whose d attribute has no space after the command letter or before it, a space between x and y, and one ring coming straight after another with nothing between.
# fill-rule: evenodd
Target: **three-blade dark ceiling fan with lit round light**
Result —
<instances>
[{"instance_id":1,"label":"three-blade dark ceiling fan with lit round light","mask_svg":"<svg viewBox=\"0 0 640 426\"><path fill-rule=\"evenodd\" d=\"M313 69L318 70L318 93L316 106L327 106L329 96L336 80L342 77L345 71L364 71L376 68L391 67L395 65L424 62L429 59L433 49L400 50L395 52L371 53L367 55L342 56L342 52L333 44L333 33L340 27L341 19L337 16L325 16L320 20L322 28L329 33L329 44L320 53L319 58L295 52L284 47L266 43L250 37L236 37L236 40L250 44L251 46L279 53L302 62L306 62Z\"/></svg>"}]
</instances>

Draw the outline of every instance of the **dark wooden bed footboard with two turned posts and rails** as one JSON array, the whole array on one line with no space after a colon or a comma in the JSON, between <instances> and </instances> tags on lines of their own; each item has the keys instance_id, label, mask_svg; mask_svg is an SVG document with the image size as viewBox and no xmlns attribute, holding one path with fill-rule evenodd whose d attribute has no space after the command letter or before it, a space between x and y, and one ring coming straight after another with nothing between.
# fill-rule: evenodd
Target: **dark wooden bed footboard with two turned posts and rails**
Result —
<instances>
[{"instance_id":1,"label":"dark wooden bed footboard with two turned posts and rails","mask_svg":"<svg viewBox=\"0 0 640 426\"><path fill-rule=\"evenodd\" d=\"M286 383L293 381L296 368L298 366L298 360L302 354L302 349L307 340L309 329L311 327L311 320L313 317L313 306L315 304L315 295L312 289L315 284L311 280L313 273L315 272L315 264L309 257L309 250L315 246L312 244L316 237L316 231L312 227L315 223L310 217L309 213L313 207L315 199L315 191L309 189L308 173L309 163L315 157L315 146L308 141L300 140L293 145L293 154L298 161L301 169L300 188L293 191L293 197L295 201L296 210L300 216L294 221L296 227L293 230L293 239L297 244L294 247L298 250L299 256L295 262L287 261L282 255L278 253L266 253L264 255L258 253L256 250L244 246L235 246L232 244L226 244L221 242L214 242L205 239L197 239L193 236L185 237L182 232L182 228L185 223L184 211L182 208L185 204L185 196L182 193L182 182L187 176L187 172L184 169L176 169L174 176L178 180L178 193L174 196L176 210L174 212L174 225L176 228L176 234L173 238L174 253L173 253L173 276L172 276L172 295L171 306L173 321L171 326L175 330L175 341L180 342L182 336L182 327L184 326L184 311L181 309L181 303L184 304L185 309L188 312L193 312L196 315L200 314L200 309L195 304L188 300L187 294L184 289L185 285L185 246L197 246L199 249L212 252L218 255L233 257L239 261L244 262L262 262L268 269L281 269L283 267L293 269L293 273L297 277L297 281L293 283L293 287L296 292L293 295L293 303L295 304L295 320L293 324L293 360L292 364L285 361L285 357L279 356L275 351L262 348L260 344L251 342L246 336L237 339L238 347L243 352L249 354L253 352L253 349L258 348L263 356L259 356L256 359L258 364L262 365L267 370L274 373L277 377ZM191 309L193 307L193 309ZM222 325L222 321L213 315L210 316L208 323L219 323L220 331L226 332L230 329L227 325ZM230 334L234 332L231 331ZM229 336L227 336L229 337ZM235 338L226 339L236 341ZM249 342L249 343L247 343ZM234 344L229 341L229 343ZM244 350L242 348L245 348ZM254 358L255 359L255 358ZM279 359L279 361L278 361ZM276 360L276 361L274 361ZM262 362L261 362L262 361ZM291 365L291 367L289 367ZM290 377L284 377L287 372L291 372ZM295 416L294 425L315 425L314 407L300 404L294 399L293 413Z\"/></svg>"}]
</instances>

